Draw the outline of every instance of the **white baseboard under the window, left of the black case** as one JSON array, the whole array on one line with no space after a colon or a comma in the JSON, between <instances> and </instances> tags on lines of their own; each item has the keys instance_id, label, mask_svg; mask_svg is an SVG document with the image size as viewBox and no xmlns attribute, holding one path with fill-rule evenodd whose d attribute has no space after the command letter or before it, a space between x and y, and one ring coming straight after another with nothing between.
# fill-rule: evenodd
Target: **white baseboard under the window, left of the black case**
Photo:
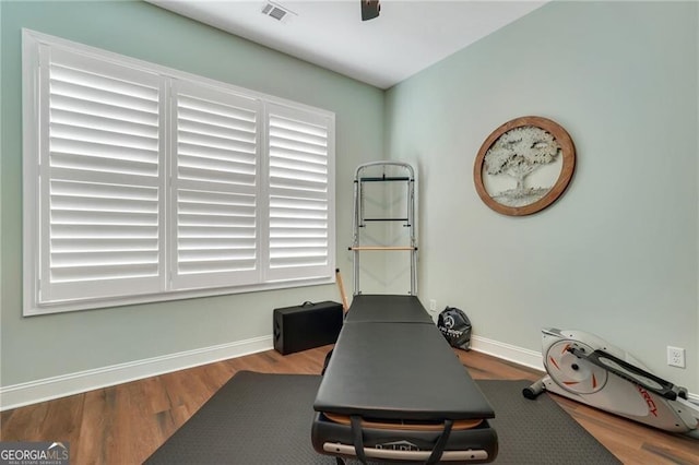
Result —
<instances>
[{"instance_id":1,"label":"white baseboard under the window, left of the black case","mask_svg":"<svg viewBox=\"0 0 699 465\"><path fill-rule=\"evenodd\" d=\"M272 336L254 337L0 388L0 412L200 365L269 350Z\"/></svg>"}]
</instances>

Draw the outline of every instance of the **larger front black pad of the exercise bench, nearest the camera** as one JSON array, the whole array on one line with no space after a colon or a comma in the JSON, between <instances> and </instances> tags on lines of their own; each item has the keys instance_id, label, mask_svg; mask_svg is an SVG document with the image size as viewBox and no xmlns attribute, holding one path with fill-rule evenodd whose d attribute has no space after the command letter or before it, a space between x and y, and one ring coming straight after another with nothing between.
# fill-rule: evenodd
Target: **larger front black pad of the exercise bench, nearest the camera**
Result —
<instances>
[{"instance_id":1,"label":"larger front black pad of the exercise bench, nearest the camera","mask_svg":"<svg viewBox=\"0 0 699 465\"><path fill-rule=\"evenodd\" d=\"M346 321L337 347L316 412L393 420L495 417L434 324Z\"/></svg>"}]
</instances>

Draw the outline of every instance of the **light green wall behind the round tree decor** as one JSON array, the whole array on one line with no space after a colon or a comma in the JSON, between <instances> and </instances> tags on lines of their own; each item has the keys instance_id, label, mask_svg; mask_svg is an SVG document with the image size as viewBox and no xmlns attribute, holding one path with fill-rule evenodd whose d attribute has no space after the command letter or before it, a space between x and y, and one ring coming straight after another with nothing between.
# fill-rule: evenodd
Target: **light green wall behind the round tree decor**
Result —
<instances>
[{"instance_id":1,"label":"light green wall behind the round tree decor","mask_svg":"<svg viewBox=\"0 0 699 465\"><path fill-rule=\"evenodd\" d=\"M387 93L387 152L419 167L423 301L532 350L544 326L596 333L699 392L697 8L548 3ZM473 165L526 115L568 130L578 167L553 206L508 217Z\"/></svg>"}]
</instances>

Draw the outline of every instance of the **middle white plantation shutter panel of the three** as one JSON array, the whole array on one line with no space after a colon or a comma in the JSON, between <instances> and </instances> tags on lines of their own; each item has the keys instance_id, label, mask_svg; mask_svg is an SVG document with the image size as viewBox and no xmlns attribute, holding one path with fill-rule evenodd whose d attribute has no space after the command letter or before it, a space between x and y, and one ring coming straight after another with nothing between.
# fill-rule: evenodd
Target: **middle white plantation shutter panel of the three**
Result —
<instances>
[{"instance_id":1,"label":"middle white plantation shutter panel of the three","mask_svg":"<svg viewBox=\"0 0 699 465\"><path fill-rule=\"evenodd\" d=\"M259 279L257 219L259 103L174 85L175 288Z\"/></svg>"}]
</instances>

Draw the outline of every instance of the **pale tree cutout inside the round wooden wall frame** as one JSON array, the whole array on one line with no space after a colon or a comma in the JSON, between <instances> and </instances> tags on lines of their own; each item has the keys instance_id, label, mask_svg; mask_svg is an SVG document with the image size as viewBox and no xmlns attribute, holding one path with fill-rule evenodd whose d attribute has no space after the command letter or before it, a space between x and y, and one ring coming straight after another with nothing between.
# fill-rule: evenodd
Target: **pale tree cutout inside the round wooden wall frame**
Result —
<instances>
[{"instance_id":1,"label":"pale tree cutout inside the round wooden wall frame","mask_svg":"<svg viewBox=\"0 0 699 465\"><path fill-rule=\"evenodd\" d=\"M505 132L485 154L485 170L493 176L509 176L517 186L493 198L509 206L531 204L543 198L550 187L528 189L525 179L543 165L554 163L560 151L556 139L542 128L524 126Z\"/></svg>"}]
</instances>

